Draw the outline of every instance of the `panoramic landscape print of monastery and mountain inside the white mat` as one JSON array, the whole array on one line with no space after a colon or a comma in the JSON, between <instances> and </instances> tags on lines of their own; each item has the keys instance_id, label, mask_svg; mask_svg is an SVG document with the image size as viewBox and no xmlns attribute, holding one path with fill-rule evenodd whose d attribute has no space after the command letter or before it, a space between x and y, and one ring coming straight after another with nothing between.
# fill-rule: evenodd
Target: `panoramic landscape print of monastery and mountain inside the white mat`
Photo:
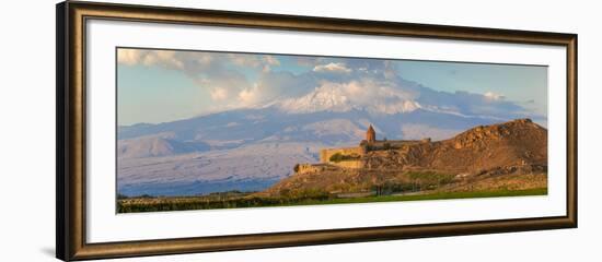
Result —
<instances>
[{"instance_id":1,"label":"panoramic landscape print of monastery and mountain inside the white mat","mask_svg":"<svg viewBox=\"0 0 602 262\"><path fill-rule=\"evenodd\" d=\"M547 194L547 67L117 48L116 212Z\"/></svg>"}]
</instances>

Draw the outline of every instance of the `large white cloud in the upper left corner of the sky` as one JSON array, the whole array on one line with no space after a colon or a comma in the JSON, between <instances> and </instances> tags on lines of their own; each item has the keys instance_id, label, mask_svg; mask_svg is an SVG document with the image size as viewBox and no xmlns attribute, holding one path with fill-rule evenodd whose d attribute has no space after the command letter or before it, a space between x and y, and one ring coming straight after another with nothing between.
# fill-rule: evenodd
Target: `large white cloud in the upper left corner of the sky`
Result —
<instances>
[{"instance_id":1,"label":"large white cloud in the upper left corner of the sky","mask_svg":"<svg viewBox=\"0 0 602 262\"><path fill-rule=\"evenodd\" d=\"M280 80L282 78L270 72L273 67L280 66L277 57L270 55L120 48L117 61L124 66L162 67L181 71L201 88L208 90L211 99L220 102L224 107L256 104L280 93L280 85L288 83L288 79ZM245 74L231 66L263 72L263 80L252 86ZM274 80L279 83L274 83Z\"/></svg>"}]
</instances>

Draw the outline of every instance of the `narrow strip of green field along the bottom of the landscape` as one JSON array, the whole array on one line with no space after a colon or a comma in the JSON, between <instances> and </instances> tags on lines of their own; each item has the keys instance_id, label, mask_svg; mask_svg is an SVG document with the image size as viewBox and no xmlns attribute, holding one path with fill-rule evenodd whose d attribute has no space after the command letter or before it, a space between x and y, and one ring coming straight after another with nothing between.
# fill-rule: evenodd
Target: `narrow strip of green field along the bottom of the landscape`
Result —
<instances>
[{"instance_id":1,"label":"narrow strip of green field along the bottom of the landscape","mask_svg":"<svg viewBox=\"0 0 602 262\"><path fill-rule=\"evenodd\" d=\"M392 201L420 201L420 200L449 200L449 199L474 199L474 198L499 198L499 196L523 196L523 195L546 195L547 188L526 190L495 190L495 191L472 191L472 192L425 192L408 195L378 195L360 198L333 198L327 195L287 199L287 198L258 198L251 194L236 194L222 199L216 196L180 196L180 198L141 198L124 199L117 202L118 213L134 212L160 212L160 211L183 211L183 210L213 210L213 209L241 209L241 207L266 207L266 206L293 206L293 205L323 205L323 204L350 204L350 203L373 203Z\"/></svg>"}]
</instances>

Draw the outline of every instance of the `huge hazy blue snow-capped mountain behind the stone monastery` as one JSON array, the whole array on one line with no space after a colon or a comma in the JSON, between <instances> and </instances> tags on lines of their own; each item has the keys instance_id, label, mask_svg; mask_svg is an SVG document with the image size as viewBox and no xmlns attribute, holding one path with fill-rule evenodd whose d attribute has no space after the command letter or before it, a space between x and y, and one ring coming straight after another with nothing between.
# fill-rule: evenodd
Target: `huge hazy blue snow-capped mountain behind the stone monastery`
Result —
<instances>
[{"instance_id":1,"label":"huge hazy blue snow-capped mountain behind the stone monastery","mask_svg":"<svg viewBox=\"0 0 602 262\"><path fill-rule=\"evenodd\" d=\"M118 190L128 195L262 190L289 176L296 164L317 162L321 148L357 145L369 124L378 139L442 140L524 117L539 119L512 103L466 92L324 82L263 106L119 127Z\"/></svg>"}]
</instances>

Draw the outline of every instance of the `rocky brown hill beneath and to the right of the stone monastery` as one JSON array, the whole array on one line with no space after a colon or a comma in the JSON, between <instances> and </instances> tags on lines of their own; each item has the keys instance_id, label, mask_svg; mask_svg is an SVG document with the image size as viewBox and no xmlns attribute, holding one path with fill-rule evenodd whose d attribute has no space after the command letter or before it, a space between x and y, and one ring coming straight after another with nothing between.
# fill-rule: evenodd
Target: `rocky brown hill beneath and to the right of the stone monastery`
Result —
<instances>
[{"instance_id":1,"label":"rocky brown hill beneath and to the right of the stone monastery","mask_svg":"<svg viewBox=\"0 0 602 262\"><path fill-rule=\"evenodd\" d=\"M381 187L401 191L465 189L466 183L508 187L505 182L510 180L500 176L511 179L513 188L545 187L547 130L530 119L518 119L475 127L443 141L370 151L361 160L364 167L359 169L316 165L314 171L294 174L262 194L345 193Z\"/></svg>"}]
</instances>

